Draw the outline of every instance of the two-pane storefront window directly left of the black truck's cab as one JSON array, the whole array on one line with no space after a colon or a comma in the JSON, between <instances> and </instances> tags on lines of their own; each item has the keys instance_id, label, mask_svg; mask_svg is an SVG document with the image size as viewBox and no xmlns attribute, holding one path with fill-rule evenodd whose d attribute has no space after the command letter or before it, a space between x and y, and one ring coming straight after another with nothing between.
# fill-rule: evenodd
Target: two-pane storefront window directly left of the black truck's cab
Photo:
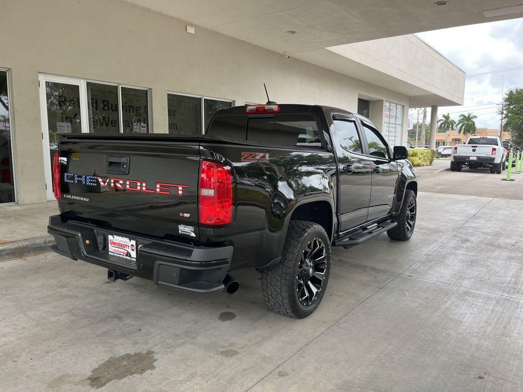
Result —
<instances>
[{"instance_id":1,"label":"two-pane storefront window directly left of the black truck's cab","mask_svg":"<svg viewBox=\"0 0 523 392\"><path fill-rule=\"evenodd\" d=\"M167 94L169 133L201 134L215 111L232 107L233 102L198 96ZM203 119L203 123L202 123Z\"/></svg>"}]
</instances>

